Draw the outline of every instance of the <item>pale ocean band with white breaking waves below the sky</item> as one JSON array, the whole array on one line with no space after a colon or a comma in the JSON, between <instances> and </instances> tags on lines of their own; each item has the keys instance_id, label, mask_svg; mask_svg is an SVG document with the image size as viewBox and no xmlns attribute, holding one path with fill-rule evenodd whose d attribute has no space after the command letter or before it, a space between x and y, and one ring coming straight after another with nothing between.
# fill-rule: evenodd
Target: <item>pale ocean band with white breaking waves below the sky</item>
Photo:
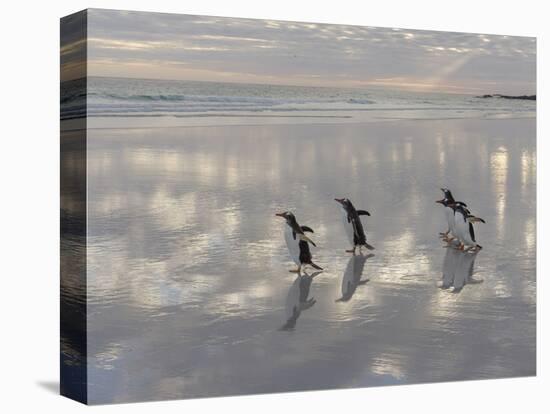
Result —
<instances>
[{"instance_id":1,"label":"pale ocean band with white breaking waves below the sky","mask_svg":"<svg viewBox=\"0 0 550 414\"><path fill-rule=\"evenodd\" d=\"M62 119L83 115L86 97L62 87ZM526 118L533 101L381 88L349 89L220 82L88 78L91 125L367 122L384 119ZM490 93L493 91L480 91ZM128 118L140 118L139 121ZM98 120L97 118L100 118ZM118 118L105 120L105 118ZM144 121L144 118L149 118ZM162 118L162 119L151 119ZM208 119L204 119L208 118ZM235 118L239 118L236 120ZM103 124L102 124L103 123ZM101 125L100 125L101 124Z\"/></svg>"}]
</instances>

